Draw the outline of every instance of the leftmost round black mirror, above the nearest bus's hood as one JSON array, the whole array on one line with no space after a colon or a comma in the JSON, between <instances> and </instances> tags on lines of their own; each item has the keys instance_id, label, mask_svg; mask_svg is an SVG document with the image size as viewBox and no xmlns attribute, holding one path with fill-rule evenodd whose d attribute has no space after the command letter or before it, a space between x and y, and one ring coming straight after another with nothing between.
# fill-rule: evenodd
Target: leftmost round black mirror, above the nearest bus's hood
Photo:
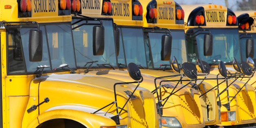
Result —
<instances>
[{"instance_id":1,"label":"leftmost round black mirror, above the nearest bus's hood","mask_svg":"<svg viewBox=\"0 0 256 128\"><path fill-rule=\"evenodd\" d=\"M139 70L138 66L134 63L129 63L127 66L128 73L132 79L138 81L141 79L141 71Z\"/></svg>"}]
</instances>

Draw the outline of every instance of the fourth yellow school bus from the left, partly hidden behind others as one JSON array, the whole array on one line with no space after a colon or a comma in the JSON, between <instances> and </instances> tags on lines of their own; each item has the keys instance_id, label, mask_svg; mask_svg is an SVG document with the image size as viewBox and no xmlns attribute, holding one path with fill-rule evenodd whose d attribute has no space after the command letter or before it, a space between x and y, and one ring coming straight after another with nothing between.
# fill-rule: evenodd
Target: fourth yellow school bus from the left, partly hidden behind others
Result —
<instances>
[{"instance_id":1,"label":"fourth yellow school bus from the left, partly hidden behind others","mask_svg":"<svg viewBox=\"0 0 256 128\"><path fill-rule=\"evenodd\" d=\"M146 51L139 54L146 53L146 63L148 64L147 67L149 69L163 71L141 69L141 73L150 74L155 77L164 75L177 75L177 73L173 73L174 70L171 69L170 61L163 61L161 59L161 37L163 34L169 35L169 33L171 33L171 58L175 56L177 58L177 61L181 64L187 62L184 25L184 14L186 12L184 12L180 5L174 1L157 1L156 7L158 13L156 20L153 20L154 18L151 18L150 16L146 16L143 19L143 34ZM147 12L150 12L150 9L147 8ZM147 15L149 15L149 13L147 13ZM128 49L125 49L125 51L127 50ZM188 77L184 77L183 79L189 80ZM186 84L187 82L188 81L183 81L182 83ZM197 81L196 83L193 82L193 84L189 84L188 86L194 86L195 84L199 83L199 81ZM202 82L197 85L199 87L197 89L201 93L201 95L207 90L210 90L209 92L201 96L201 108L205 126L216 126L217 124L221 124L220 106L218 106L217 104L217 99L213 98L217 96L215 91L211 89L217 84L217 82L210 83L212 85L206 82Z\"/></svg>"}]
</instances>

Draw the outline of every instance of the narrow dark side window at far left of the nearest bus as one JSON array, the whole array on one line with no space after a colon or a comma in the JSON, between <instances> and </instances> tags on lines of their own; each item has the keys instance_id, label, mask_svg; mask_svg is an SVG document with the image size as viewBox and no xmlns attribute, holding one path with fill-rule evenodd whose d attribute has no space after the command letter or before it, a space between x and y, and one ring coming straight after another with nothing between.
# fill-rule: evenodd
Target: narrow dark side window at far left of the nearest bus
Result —
<instances>
[{"instance_id":1,"label":"narrow dark side window at far left of the nearest bus","mask_svg":"<svg viewBox=\"0 0 256 128\"><path fill-rule=\"evenodd\" d=\"M24 73L21 38L18 29L9 29L8 33L8 70L9 73Z\"/></svg>"}]
</instances>

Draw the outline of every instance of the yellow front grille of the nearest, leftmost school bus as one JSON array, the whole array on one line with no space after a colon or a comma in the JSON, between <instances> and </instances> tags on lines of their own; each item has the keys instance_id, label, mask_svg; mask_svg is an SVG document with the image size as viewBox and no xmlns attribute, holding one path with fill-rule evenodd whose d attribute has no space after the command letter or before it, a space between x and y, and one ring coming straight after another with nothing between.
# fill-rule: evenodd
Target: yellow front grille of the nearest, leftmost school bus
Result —
<instances>
[{"instance_id":1,"label":"yellow front grille of the nearest, leftmost school bus","mask_svg":"<svg viewBox=\"0 0 256 128\"><path fill-rule=\"evenodd\" d=\"M144 105L139 99L131 102L131 128L155 128L155 109L152 98L144 98Z\"/></svg>"}]
</instances>

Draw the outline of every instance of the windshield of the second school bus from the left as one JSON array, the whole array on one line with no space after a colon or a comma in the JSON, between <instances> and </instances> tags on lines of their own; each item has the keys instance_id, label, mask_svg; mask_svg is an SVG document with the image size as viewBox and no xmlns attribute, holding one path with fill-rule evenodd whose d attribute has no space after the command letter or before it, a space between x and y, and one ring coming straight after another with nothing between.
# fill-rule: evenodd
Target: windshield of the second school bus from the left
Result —
<instances>
[{"instance_id":1,"label":"windshield of the second school bus from the left","mask_svg":"<svg viewBox=\"0 0 256 128\"><path fill-rule=\"evenodd\" d=\"M76 22L80 19L73 19L72 22ZM77 67L83 68L86 62L98 61L93 63L92 68L104 68L105 66L97 66L97 64L110 64L117 66L115 41L113 32L113 20L101 20L104 26L104 54L93 55L93 26L95 25L82 25L73 30L73 38L75 45L75 55L77 61ZM77 26L85 24L86 20L73 25ZM89 24L99 24L99 21L88 20ZM89 64L87 64L88 66Z\"/></svg>"}]
</instances>

